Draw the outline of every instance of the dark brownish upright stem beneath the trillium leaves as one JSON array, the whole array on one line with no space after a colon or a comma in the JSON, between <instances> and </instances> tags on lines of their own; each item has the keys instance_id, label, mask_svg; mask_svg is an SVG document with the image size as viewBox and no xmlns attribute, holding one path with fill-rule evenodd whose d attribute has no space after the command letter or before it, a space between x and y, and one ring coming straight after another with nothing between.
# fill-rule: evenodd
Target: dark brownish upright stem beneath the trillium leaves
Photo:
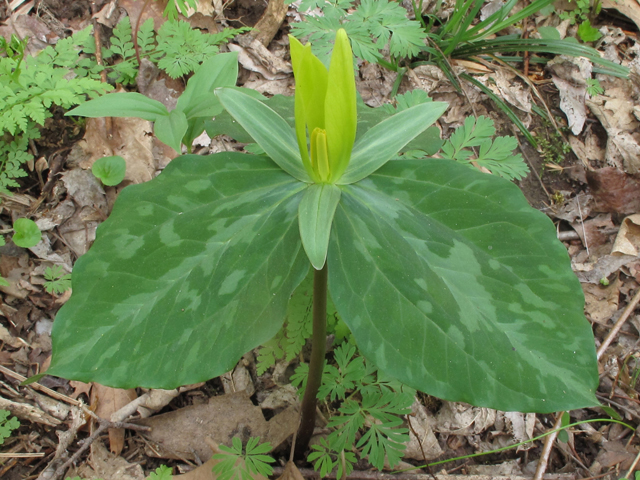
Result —
<instances>
[{"instance_id":1,"label":"dark brownish upright stem beneath the trillium leaves","mask_svg":"<svg viewBox=\"0 0 640 480\"><path fill-rule=\"evenodd\" d=\"M327 264L313 272L313 334L307 388L302 398L300 427L295 456L301 458L309 445L316 425L316 403L322 384L324 356L327 348Z\"/></svg>"}]
</instances>

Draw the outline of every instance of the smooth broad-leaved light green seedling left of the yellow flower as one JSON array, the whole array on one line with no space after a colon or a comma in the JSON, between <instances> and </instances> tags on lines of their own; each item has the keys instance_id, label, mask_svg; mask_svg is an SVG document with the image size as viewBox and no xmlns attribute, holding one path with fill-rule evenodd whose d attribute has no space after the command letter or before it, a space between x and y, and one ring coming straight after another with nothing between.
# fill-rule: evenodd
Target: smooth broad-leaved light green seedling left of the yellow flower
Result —
<instances>
[{"instance_id":1,"label":"smooth broad-leaved light green seedling left of the yellow flower","mask_svg":"<svg viewBox=\"0 0 640 480\"><path fill-rule=\"evenodd\" d=\"M180 153L191 151L193 140L204 131L205 120L222 112L213 95L218 87L233 87L238 77L238 54L221 53L206 60L189 79L176 108L169 111L157 100L136 92L113 93L91 100L66 113L81 117L138 117L154 122L158 140Z\"/></svg>"}]
</instances>

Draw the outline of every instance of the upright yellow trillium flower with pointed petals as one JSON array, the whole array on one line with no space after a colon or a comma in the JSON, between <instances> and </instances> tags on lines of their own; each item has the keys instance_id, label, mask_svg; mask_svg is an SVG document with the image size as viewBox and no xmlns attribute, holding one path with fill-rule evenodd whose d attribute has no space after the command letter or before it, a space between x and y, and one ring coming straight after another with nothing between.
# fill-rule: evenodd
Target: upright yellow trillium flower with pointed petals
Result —
<instances>
[{"instance_id":1,"label":"upright yellow trillium flower with pointed petals","mask_svg":"<svg viewBox=\"0 0 640 480\"><path fill-rule=\"evenodd\" d=\"M302 163L315 183L335 183L349 164L356 139L351 45L344 29L338 30L327 70L311 53L311 44L302 45L291 35L289 40L296 80L296 137Z\"/></svg>"}]
</instances>

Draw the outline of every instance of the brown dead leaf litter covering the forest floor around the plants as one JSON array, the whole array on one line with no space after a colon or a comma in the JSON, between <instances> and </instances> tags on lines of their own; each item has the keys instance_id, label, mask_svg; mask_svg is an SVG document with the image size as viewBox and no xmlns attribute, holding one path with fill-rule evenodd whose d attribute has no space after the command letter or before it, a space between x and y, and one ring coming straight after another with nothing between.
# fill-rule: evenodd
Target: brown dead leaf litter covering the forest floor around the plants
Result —
<instances>
[{"instance_id":1,"label":"brown dead leaf litter covering the forest floor around the plants","mask_svg":"<svg viewBox=\"0 0 640 480\"><path fill-rule=\"evenodd\" d=\"M200 3L206 7L204 14L189 21L194 27L214 31L212 15L220 6ZM143 4L140 0L96 1L93 8L103 12L102 22L107 6L136 19ZM519 148L531 172L518 184L530 204L557 225L558 237L566 245L583 286L585 314L596 345L602 347L607 342L599 358L598 398L610 409L573 411L571 420L617 415L636 427L640 420L640 314L635 309L640 292L640 4L635 0L603 0L602 5L602 12L592 22L604 33L596 46L607 58L629 66L632 74L627 79L598 75L603 92L587 97L586 105L584 93L582 100L575 100L571 72L578 67L571 59L546 69L528 65L530 82L522 79L523 64L515 64L514 69L459 62L455 68L490 85L536 138L543 139L536 150L520 137ZM236 0L229 2L223 13L236 20L230 22L233 26L253 26L261 18L265 20L265 7L266 2ZM11 33L18 33L43 45L53 44L90 25L91 9L89 0L6 1L0 4L0 34L8 39ZM144 15L154 18L157 26L162 22L162 10L161 3L151 2ZM293 93L286 34L299 14L293 6L284 13L287 15L276 15L277 19L266 18L275 25L272 39L266 41L268 49L232 42L240 51L239 85L265 95ZM528 26L533 31L551 21L551 16L530 18ZM100 25L103 37L109 38L113 23L104 20ZM573 27L564 24L563 28L571 31ZM152 85L145 88L155 92L154 98L175 98L184 89L181 81L162 72L150 75ZM388 103L396 75L377 64L362 64L357 84L365 103ZM464 94L456 91L437 67L420 66L405 75L399 93L419 88L434 100L450 104L438 122L443 138L469 115L492 118L502 135L518 133L480 90L463 87ZM558 122L557 128L543 123L532 104L545 104ZM9 410L20 420L20 427L0 448L0 478L142 480L164 464L173 468L176 477L211 479L215 477L207 462L212 451L210 437L215 437L214 443L229 443L243 428L249 428L254 436L262 432L262 440L271 441L276 473L282 472L297 425L299 400L295 389L282 380L290 366L278 365L275 371L257 376L255 352L245 355L234 371L223 377L176 391L116 390L54 377L20 386L26 377L46 369L51 326L70 295L70 291L55 295L44 289L45 267L56 264L72 270L122 188L103 188L90 173L93 161L105 154L122 155L127 159L125 184L131 184L154 178L176 156L155 142L149 122L114 118L112 135L119 139L114 146L106 137L104 122L90 120L80 126L63 114L56 111L47 120L41 138L32 145L36 161L29 165L29 176L22 179L21 189L3 196L0 204L2 225L30 216L44 231L43 242L32 249L11 242L0 247L0 273L9 281L8 287L0 287L0 409ZM197 144L195 153L236 148L226 137L201 137ZM614 325L618 327L614 329ZM119 412L116 420L120 422L148 417L143 423L151 426L153 433L123 428L107 431L110 424L96 419L113 419L114 412ZM498 412L419 395L409 421L412 440L398 469L530 440L552 429L557 418L553 414ZM90 436L91 441L85 442ZM637 478L633 471L634 466L640 469L640 442L628 428L587 423L570 429L563 440L556 441L546 453L545 440L540 439L517 449L399 474L398 478L532 478L541 459L547 462L546 469L540 470L544 478ZM74 458L69 470L54 473L83 443L88 448ZM303 474L312 475L309 464L301 462L298 467ZM388 477L360 462L350 478Z\"/></svg>"}]
</instances>

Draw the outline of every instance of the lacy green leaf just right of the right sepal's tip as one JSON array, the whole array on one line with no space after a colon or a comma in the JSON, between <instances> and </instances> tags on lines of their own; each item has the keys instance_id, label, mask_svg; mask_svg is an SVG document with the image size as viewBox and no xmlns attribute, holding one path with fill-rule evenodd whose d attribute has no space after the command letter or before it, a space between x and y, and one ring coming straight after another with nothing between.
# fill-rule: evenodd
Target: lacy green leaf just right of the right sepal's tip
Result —
<instances>
[{"instance_id":1,"label":"lacy green leaf just right of the right sepal's tip","mask_svg":"<svg viewBox=\"0 0 640 480\"><path fill-rule=\"evenodd\" d=\"M490 118L467 117L464 125L458 127L442 146L442 156L472 167L471 162L476 162L491 173L508 180L519 180L526 176L529 167L522 155L513 154L518 148L517 140L514 137L493 138L495 133L493 120ZM477 154L474 154L472 147L479 147Z\"/></svg>"}]
</instances>

